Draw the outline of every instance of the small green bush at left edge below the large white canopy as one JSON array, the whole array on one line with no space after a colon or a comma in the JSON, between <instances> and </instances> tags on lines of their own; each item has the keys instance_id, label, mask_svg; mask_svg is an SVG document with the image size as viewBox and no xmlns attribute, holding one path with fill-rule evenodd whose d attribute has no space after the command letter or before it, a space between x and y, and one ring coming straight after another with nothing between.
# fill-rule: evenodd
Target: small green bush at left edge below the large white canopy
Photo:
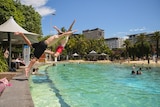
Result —
<instances>
[{"instance_id":1,"label":"small green bush at left edge below the large white canopy","mask_svg":"<svg viewBox=\"0 0 160 107\"><path fill-rule=\"evenodd\" d=\"M2 51L0 51L0 72L8 71L8 64L5 60Z\"/></svg>"}]
</instances>

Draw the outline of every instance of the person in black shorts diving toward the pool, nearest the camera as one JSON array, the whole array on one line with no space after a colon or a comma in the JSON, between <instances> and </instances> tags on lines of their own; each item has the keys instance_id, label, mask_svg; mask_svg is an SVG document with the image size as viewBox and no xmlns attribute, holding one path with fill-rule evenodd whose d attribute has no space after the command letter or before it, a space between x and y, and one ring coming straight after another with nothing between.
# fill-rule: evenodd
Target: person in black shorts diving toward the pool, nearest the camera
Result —
<instances>
[{"instance_id":1,"label":"person in black shorts diving toward the pool, nearest the camera","mask_svg":"<svg viewBox=\"0 0 160 107\"><path fill-rule=\"evenodd\" d=\"M48 39L46 39L45 41L40 41L38 43L31 43L29 41L29 39L22 33L22 32L15 32L14 35L19 35L21 36L24 41L32 48L34 48L34 58L31 60L31 62L29 63L28 67L25 68L25 72L26 72L26 77L28 77L28 72L30 71L30 69L32 68L32 66L35 64L35 62L41 57L41 55L45 52L45 50L47 49L48 46L51 46L57 39L61 38L62 36L70 36L71 34L73 34L76 31L71 31L71 29L67 32L61 32L58 35L54 35L49 37ZM62 47L60 48L60 50L62 50ZM58 51L58 48L57 48ZM59 53L60 51L56 52ZM57 57L59 54L56 54L55 56Z\"/></svg>"}]
</instances>

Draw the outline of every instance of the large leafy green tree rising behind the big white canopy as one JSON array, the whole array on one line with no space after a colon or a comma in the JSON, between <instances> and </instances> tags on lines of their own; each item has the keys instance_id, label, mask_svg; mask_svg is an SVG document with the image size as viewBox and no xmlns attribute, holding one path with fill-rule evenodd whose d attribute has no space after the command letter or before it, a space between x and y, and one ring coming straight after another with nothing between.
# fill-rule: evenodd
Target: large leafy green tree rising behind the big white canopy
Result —
<instances>
[{"instance_id":1,"label":"large leafy green tree rising behind the big white canopy","mask_svg":"<svg viewBox=\"0 0 160 107\"><path fill-rule=\"evenodd\" d=\"M32 6L22 5L19 0L1 0L0 24L13 16L15 21L29 32L42 34L41 16Z\"/></svg>"}]
</instances>

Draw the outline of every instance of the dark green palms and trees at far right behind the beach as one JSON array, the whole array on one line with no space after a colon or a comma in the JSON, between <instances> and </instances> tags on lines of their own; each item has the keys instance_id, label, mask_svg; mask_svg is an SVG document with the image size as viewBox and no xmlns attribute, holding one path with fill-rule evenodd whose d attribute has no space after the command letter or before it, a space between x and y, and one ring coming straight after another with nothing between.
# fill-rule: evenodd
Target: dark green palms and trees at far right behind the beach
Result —
<instances>
[{"instance_id":1,"label":"dark green palms and trees at far right behind the beach","mask_svg":"<svg viewBox=\"0 0 160 107\"><path fill-rule=\"evenodd\" d=\"M146 36L145 34L140 34L136 37L136 43L131 44L130 40L124 41L124 46L126 47L126 56L143 58L146 56L148 58L149 55L157 54L159 55L159 40L160 33L155 32L153 36ZM156 52L156 53L155 53Z\"/></svg>"}]
</instances>

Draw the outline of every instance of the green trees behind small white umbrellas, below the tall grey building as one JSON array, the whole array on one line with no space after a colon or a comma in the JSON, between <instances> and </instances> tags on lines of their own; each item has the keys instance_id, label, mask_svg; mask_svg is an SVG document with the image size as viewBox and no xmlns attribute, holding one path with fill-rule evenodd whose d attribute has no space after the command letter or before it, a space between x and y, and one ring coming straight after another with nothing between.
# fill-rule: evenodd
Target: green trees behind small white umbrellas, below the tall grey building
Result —
<instances>
[{"instance_id":1,"label":"green trees behind small white umbrellas, below the tall grey building","mask_svg":"<svg viewBox=\"0 0 160 107\"><path fill-rule=\"evenodd\" d=\"M88 40L84 35L71 36L65 49L69 55L78 53L81 56L84 56L92 50L95 50L97 53L111 53L110 49L105 44L104 39Z\"/></svg>"}]
</instances>

